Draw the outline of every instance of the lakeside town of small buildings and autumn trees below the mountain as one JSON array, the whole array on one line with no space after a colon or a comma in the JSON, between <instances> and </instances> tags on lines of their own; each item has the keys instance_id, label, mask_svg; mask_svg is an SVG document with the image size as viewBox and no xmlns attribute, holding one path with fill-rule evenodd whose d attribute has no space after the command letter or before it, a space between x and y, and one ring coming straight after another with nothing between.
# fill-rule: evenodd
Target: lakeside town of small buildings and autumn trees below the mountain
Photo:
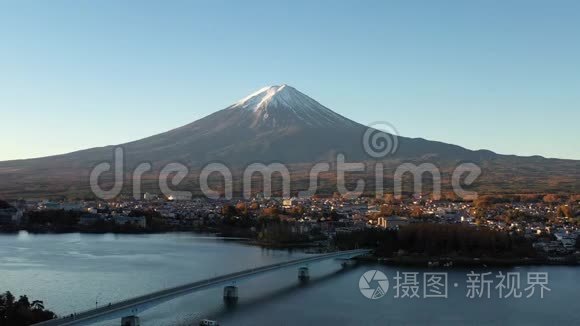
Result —
<instances>
[{"instance_id":1,"label":"lakeside town of small buildings and autumn trees below the mountain","mask_svg":"<svg viewBox=\"0 0 580 326\"><path fill-rule=\"evenodd\" d=\"M174 200L146 193L142 200L13 201L0 205L0 230L14 232L199 231L252 239L265 246L322 246L365 230L413 225L461 225L529 241L551 261L577 262L580 196L497 195L474 201L428 196L396 199L328 197L250 200ZM465 233L465 231L461 231ZM580 244L580 241L578 242Z\"/></svg>"}]
</instances>

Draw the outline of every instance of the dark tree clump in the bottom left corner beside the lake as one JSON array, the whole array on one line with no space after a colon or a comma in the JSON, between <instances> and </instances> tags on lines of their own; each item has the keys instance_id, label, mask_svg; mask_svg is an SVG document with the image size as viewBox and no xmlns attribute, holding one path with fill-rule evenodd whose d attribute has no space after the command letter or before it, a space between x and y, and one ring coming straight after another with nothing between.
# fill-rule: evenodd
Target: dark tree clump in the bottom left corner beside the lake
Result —
<instances>
[{"instance_id":1,"label":"dark tree clump in the bottom left corner beside the lake","mask_svg":"<svg viewBox=\"0 0 580 326\"><path fill-rule=\"evenodd\" d=\"M0 294L0 325L32 325L55 317L52 311L44 309L42 301L30 302L25 295L16 300L10 292Z\"/></svg>"}]
</instances>

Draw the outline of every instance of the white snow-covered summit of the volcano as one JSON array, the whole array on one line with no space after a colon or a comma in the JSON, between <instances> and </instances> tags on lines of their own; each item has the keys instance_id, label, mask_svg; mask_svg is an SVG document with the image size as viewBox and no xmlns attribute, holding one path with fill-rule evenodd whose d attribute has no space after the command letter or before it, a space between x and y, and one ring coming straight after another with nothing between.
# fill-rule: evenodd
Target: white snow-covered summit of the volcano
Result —
<instances>
[{"instance_id":1,"label":"white snow-covered summit of the volcano","mask_svg":"<svg viewBox=\"0 0 580 326\"><path fill-rule=\"evenodd\" d=\"M243 109L254 115L253 127L281 127L295 123L312 127L354 124L304 93L286 84L267 86L244 97L228 109Z\"/></svg>"}]
</instances>

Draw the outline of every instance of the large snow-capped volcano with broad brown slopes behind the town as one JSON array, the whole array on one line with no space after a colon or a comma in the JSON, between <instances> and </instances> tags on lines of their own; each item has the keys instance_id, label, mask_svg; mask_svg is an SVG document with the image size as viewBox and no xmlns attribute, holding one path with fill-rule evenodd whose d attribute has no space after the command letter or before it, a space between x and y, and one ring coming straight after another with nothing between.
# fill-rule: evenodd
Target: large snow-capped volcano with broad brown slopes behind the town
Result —
<instances>
[{"instance_id":1,"label":"large snow-capped volcano with broad brown slopes behind the town","mask_svg":"<svg viewBox=\"0 0 580 326\"><path fill-rule=\"evenodd\" d=\"M367 129L291 86L277 85L190 124L118 146L124 149L127 171L142 162L150 162L154 171L169 162L185 164L190 170L211 162L232 169L280 162L306 172L313 163L335 161L338 153L350 162L376 160L363 147ZM499 155L422 138L399 136L397 140L398 150L381 161L393 166L430 162L443 171L460 162L474 162L484 169L478 186L486 191L573 191L580 183L579 161ZM0 196L82 192L88 188L91 168L111 161L115 147L0 162Z\"/></svg>"}]
</instances>

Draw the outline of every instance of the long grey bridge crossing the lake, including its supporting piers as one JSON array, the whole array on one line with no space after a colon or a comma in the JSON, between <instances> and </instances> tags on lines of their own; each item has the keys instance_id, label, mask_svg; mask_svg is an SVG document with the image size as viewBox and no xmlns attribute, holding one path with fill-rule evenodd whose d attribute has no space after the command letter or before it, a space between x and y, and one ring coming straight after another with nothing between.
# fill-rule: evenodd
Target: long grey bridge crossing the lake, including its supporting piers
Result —
<instances>
[{"instance_id":1,"label":"long grey bridge crossing the lake, including its supporting piers","mask_svg":"<svg viewBox=\"0 0 580 326\"><path fill-rule=\"evenodd\" d=\"M295 259L287 262L276 263L272 265L250 268L240 272L216 276L201 281L179 285L176 287L152 292L127 300L111 303L106 306L86 310L77 314L55 318L35 325L42 326L68 326L68 325L88 325L91 323L121 318L122 326L139 325L140 312L157 306L163 302L177 298L182 295L209 289L216 286L227 285L224 288L224 300L237 300L237 287L231 285L236 281L258 276L260 274L272 272L279 269L300 266L298 269L298 278L301 280L308 279L308 264L320 262L328 259L352 259L356 256L369 253L368 249L357 249L348 251L337 251L333 253L309 256Z\"/></svg>"}]
</instances>

